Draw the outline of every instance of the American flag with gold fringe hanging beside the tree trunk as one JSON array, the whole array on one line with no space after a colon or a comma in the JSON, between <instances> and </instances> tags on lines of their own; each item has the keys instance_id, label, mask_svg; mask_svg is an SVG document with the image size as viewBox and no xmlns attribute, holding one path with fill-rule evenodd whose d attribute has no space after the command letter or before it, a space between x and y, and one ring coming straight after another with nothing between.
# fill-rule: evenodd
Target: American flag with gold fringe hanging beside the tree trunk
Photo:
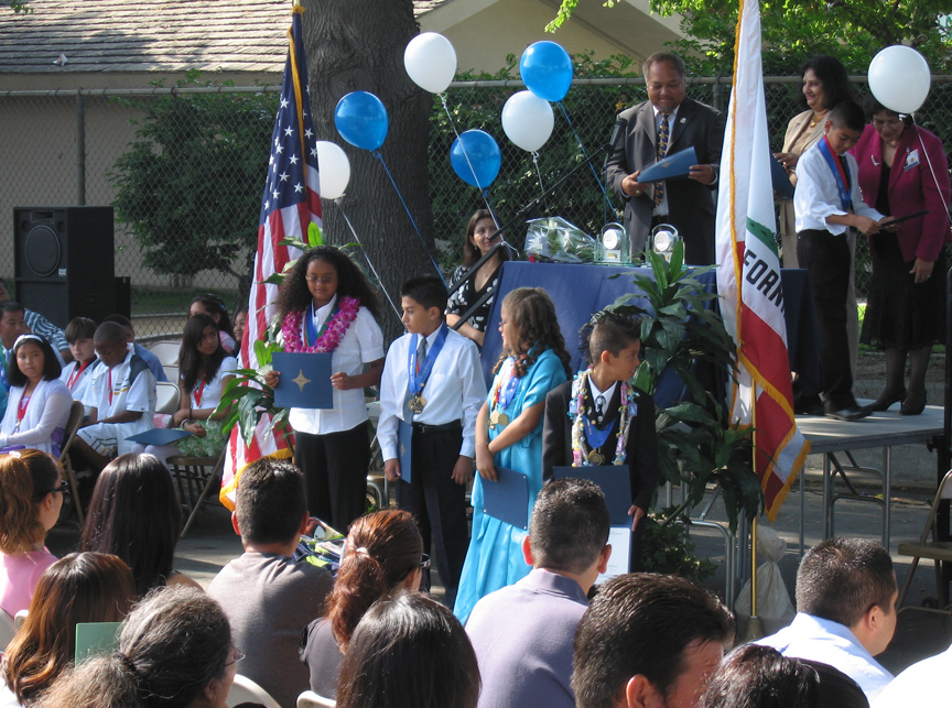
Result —
<instances>
[{"instance_id":1,"label":"American flag with gold fringe hanging beside the tree trunk","mask_svg":"<svg viewBox=\"0 0 952 708\"><path fill-rule=\"evenodd\" d=\"M317 192L317 144L311 120L307 62L301 29L304 8L291 10L288 30L290 46L281 85L281 102L271 137L271 156L268 177L261 197L258 225L258 253L255 255L255 283L248 296L248 324L241 338L242 366L258 368L251 342L263 339L273 316L278 286L264 281L272 273L283 271L288 261L301 253L281 246L288 237L306 242L311 222L321 226L321 197ZM290 457L283 435L274 436L271 420L262 416L255 431L255 439L246 446L236 425L231 429L221 475L219 499L228 509L235 509L235 490L241 470L261 457Z\"/></svg>"}]
</instances>

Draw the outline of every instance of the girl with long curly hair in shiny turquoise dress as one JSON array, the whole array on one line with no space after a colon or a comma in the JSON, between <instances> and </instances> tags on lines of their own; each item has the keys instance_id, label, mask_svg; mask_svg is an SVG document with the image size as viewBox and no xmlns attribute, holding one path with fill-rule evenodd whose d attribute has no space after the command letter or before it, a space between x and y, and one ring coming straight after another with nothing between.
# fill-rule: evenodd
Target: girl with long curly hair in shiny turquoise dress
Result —
<instances>
[{"instance_id":1,"label":"girl with long curly hair in shiny turquoise dress","mask_svg":"<svg viewBox=\"0 0 952 708\"><path fill-rule=\"evenodd\" d=\"M502 301L500 317L502 355L476 420L479 475L473 484L473 536L453 610L462 622L479 598L512 585L531 570L522 556L526 530L483 512L484 487L496 483L497 466L526 475L529 519L542 489L545 395L571 373L555 307L544 290L513 290Z\"/></svg>"}]
</instances>

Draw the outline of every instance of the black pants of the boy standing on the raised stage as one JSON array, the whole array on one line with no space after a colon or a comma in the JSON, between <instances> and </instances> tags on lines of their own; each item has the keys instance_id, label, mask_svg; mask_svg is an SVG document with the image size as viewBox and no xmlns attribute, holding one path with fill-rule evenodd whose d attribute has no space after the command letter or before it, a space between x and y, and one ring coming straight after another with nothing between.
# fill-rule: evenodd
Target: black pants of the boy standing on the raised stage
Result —
<instances>
[{"instance_id":1,"label":"black pants of the boy standing on the raised stage","mask_svg":"<svg viewBox=\"0 0 952 708\"><path fill-rule=\"evenodd\" d=\"M797 258L810 273L810 293L820 339L823 407L839 411L856 405L850 340L846 335L846 293L850 286L850 246L846 237L808 229L797 233Z\"/></svg>"}]
</instances>

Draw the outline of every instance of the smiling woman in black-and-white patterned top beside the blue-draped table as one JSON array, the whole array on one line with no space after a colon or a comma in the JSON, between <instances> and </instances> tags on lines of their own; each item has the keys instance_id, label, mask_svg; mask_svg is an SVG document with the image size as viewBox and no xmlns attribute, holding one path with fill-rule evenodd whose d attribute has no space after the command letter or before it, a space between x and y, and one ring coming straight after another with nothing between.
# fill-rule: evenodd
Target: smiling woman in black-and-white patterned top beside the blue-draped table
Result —
<instances>
[{"instance_id":1,"label":"smiling woman in black-and-white patterned top beside the blue-draped table","mask_svg":"<svg viewBox=\"0 0 952 708\"><path fill-rule=\"evenodd\" d=\"M496 221L493 220L493 215L487 209L479 209L469 218L469 224L466 225L466 242L463 244L463 265L453 271L453 277L450 281L451 288L469 273L476 261L499 242L500 235L496 231ZM490 238L494 235L496 235L495 238ZM496 251L493 258L483 263L476 274L463 287L450 296L450 302L446 303L447 325L455 327L462 315L470 306L475 305L487 292L491 293L496 290L499 269L505 260L505 251ZM468 337L479 347L483 346L483 336L486 331L486 323L489 320L494 297L495 295L491 295L479 309L466 318L466 322L456 327L456 331Z\"/></svg>"}]
</instances>

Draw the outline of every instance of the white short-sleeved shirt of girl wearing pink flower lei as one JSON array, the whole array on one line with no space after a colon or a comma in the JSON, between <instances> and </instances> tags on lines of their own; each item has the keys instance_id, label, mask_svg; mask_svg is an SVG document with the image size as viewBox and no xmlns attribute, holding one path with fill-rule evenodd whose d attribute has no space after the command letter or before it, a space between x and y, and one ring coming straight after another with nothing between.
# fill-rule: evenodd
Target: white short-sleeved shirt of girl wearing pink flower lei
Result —
<instances>
[{"instance_id":1,"label":"white short-sleeved shirt of girl wearing pink flower lei","mask_svg":"<svg viewBox=\"0 0 952 708\"><path fill-rule=\"evenodd\" d=\"M329 303L314 313L314 326L317 331L334 311L337 302L335 295ZM310 312L310 311L309 311ZM307 326L307 313L301 318L302 341L304 327ZM331 355L331 373L343 371L347 375L363 373L364 364L383 358L383 333L366 307L357 311L357 317L350 323L340 344ZM331 409L291 409L288 421L291 427L310 435L326 435L350 431L367 420L367 404L364 401L364 389L342 391L332 389L333 407Z\"/></svg>"}]
</instances>

